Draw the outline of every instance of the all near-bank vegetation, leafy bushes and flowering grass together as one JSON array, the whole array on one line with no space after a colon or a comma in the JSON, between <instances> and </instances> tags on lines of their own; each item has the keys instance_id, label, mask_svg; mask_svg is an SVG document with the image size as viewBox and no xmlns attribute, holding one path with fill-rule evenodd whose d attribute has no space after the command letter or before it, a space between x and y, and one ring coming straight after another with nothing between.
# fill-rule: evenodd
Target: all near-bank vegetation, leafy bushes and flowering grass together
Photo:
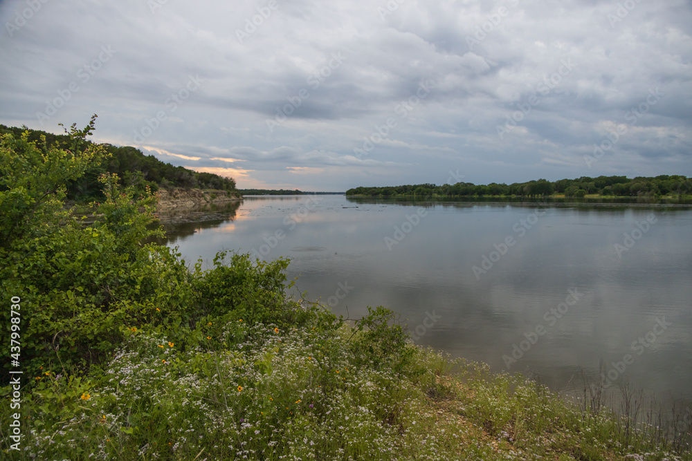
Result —
<instances>
[{"instance_id":1,"label":"all near-bank vegetation, leafy bushes and flowering grass together","mask_svg":"<svg viewBox=\"0 0 692 461\"><path fill-rule=\"evenodd\" d=\"M203 269L143 245L162 234L155 196L112 173L86 224L64 200L104 161L92 130L73 126L69 151L1 138L0 292L21 299L19 317L0 313L21 343L0 349L3 458L692 459L684 413L635 424L591 391L569 402L419 348L385 308L349 321L289 299L283 259L219 252ZM19 408L10 369L24 372Z\"/></svg>"}]
</instances>

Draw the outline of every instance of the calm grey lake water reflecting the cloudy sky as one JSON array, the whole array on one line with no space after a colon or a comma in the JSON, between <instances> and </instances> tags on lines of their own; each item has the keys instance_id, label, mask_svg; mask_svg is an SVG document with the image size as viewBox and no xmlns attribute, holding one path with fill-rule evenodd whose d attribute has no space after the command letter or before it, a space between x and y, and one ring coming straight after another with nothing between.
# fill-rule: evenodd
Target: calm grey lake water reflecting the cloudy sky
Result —
<instances>
[{"instance_id":1,"label":"calm grey lake water reflecting the cloudy sky","mask_svg":"<svg viewBox=\"0 0 692 461\"><path fill-rule=\"evenodd\" d=\"M188 263L284 256L309 298L352 319L384 305L417 344L567 392L603 359L612 388L692 400L689 207L292 196L218 212L167 226Z\"/></svg>"}]
</instances>

